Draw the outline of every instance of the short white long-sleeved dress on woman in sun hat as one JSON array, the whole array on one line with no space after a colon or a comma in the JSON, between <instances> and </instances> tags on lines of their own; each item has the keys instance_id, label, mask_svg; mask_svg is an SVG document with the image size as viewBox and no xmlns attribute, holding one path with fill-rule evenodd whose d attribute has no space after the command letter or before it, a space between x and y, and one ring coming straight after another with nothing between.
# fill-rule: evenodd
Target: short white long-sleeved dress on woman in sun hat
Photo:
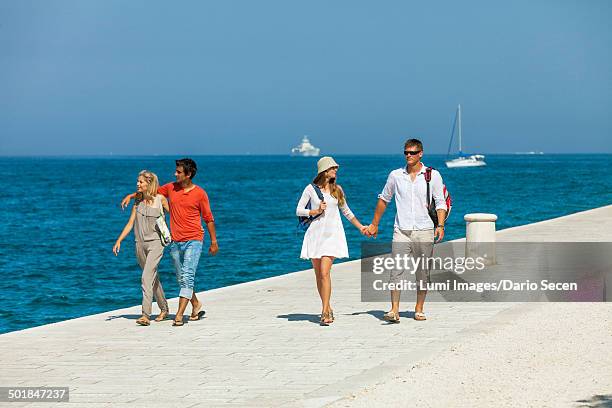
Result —
<instances>
[{"instance_id":1,"label":"short white long-sleeved dress on woman in sun hat","mask_svg":"<svg viewBox=\"0 0 612 408\"><path fill-rule=\"evenodd\" d=\"M330 194L323 192L323 198L327 203L327 209L311 224L302 243L302 259L318 259L322 256L333 256L335 258L348 258L348 245L346 244L346 235L340 218L340 210L347 220L352 220L355 216L351 209L345 203L338 208L338 200ZM298 202L296 215L299 217L308 216L306 204L310 200L310 208L316 210L321 205L321 200L312 185L306 186L302 197Z\"/></svg>"}]
</instances>

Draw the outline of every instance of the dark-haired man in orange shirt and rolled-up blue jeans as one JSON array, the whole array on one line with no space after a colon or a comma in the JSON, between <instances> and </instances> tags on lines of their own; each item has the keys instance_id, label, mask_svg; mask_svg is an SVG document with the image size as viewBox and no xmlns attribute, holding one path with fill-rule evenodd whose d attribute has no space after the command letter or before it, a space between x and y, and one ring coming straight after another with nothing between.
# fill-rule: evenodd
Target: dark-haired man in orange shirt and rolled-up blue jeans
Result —
<instances>
[{"instance_id":1,"label":"dark-haired man in orange shirt and rolled-up blue jeans","mask_svg":"<svg viewBox=\"0 0 612 408\"><path fill-rule=\"evenodd\" d=\"M176 182L168 183L158 189L158 193L168 198L170 204L170 231L172 243L170 255L174 262L176 277L180 286L179 307L173 326L182 326L183 314L191 302L192 312L189 320L200 320L204 312L193 288L195 272L198 267L204 240L204 230L200 218L204 219L210 235L208 252L215 255L219 251L215 221L210 210L208 195L200 186L193 184L197 172L196 163L189 158L176 161L174 176ZM133 198L126 196L121 205L125 207Z\"/></svg>"}]
</instances>

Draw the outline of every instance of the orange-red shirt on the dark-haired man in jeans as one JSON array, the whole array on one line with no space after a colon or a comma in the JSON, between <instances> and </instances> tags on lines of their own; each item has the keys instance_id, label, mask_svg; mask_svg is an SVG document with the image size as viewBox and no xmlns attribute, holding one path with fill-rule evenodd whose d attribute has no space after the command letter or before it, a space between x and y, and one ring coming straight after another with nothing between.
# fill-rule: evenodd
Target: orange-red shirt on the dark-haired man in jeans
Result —
<instances>
[{"instance_id":1,"label":"orange-red shirt on the dark-haired man in jeans","mask_svg":"<svg viewBox=\"0 0 612 408\"><path fill-rule=\"evenodd\" d=\"M177 242L202 241L202 221L213 222L208 195L202 187L195 186L185 192L179 183L168 183L157 192L168 198L170 204L170 233Z\"/></svg>"}]
</instances>

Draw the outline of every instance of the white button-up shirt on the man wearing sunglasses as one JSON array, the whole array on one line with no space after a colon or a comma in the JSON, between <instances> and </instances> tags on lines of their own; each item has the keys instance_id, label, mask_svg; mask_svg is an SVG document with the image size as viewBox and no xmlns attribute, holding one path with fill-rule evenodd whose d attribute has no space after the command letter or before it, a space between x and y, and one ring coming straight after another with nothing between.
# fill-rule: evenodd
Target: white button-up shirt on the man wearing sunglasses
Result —
<instances>
[{"instance_id":1,"label":"white button-up shirt on the man wearing sunglasses","mask_svg":"<svg viewBox=\"0 0 612 408\"><path fill-rule=\"evenodd\" d=\"M405 167L393 170L389 173L387 183L378 198L391 202L395 195L395 228L401 230L426 230L434 227L433 221L427 213L427 182L425 181L425 170L427 166L421 163L422 167L414 178L410 179L410 174ZM431 171L431 181L429 191L432 199L436 203L436 210L446 210L444 200L442 176L437 170Z\"/></svg>"}]
</instances>

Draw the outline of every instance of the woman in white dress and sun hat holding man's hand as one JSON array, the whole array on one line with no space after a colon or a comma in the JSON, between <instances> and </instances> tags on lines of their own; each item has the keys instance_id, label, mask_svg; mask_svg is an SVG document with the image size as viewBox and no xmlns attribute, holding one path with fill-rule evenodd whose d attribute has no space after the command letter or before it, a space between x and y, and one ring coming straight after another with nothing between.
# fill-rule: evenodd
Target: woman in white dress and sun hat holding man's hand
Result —
<instances>
[{"instance_id":1,"label":"woman in white dress and sun hat holding man's hand","mask_svg":"<svg viewBox=\"0 0 612 408\"><path fill-rule=\"evenodd\" d=\"M330 271L334 259L347 258L348 246L340 211L362 234L364 227L353 215L346 203L342 188L336 184L338 164L331 157L322 157L317 163L317 177L304 189L298 202L298 217L316 217L304 235L300 258L310 259L317 278L317 290L321 297L321 325L329 326L334 321L334 312L329 304L331 298ZM323 194L323 200L313 187ZM307 208L310 203L310 208Z\"/></svg>"}]
</instances>

